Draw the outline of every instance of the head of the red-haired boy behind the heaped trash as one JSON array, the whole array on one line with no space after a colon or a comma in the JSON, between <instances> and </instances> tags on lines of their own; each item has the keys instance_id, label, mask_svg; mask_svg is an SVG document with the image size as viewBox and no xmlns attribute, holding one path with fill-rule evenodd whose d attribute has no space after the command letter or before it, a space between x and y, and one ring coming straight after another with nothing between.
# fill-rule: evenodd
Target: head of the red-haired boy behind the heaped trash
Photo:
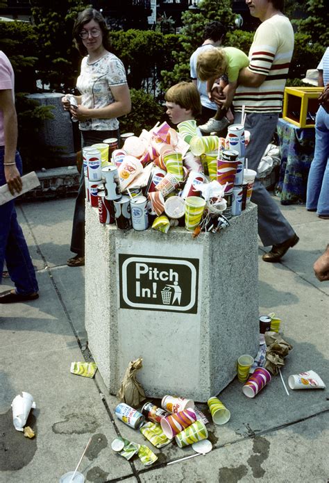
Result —
<instances>
[{"instance_id":1,"label":"head of the red-haired boy behind the heaped trash","mask_svg":"<svg viewBox=\"0 0 329 483\"><path fill-rule=\"evenodd\" d=\"M199 91L192 82L172 85L165 94L167 115L173 124L194 120L201 114Z\"/></svg>"}]
</instances>

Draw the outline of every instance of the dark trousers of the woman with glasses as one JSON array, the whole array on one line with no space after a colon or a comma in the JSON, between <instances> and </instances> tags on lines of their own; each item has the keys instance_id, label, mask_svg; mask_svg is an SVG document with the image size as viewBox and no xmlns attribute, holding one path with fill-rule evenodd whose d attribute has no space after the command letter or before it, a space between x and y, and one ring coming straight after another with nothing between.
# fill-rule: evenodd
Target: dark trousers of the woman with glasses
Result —
<instances>
[{"instance_id":1,"label":"dark trousers of the woman with glasses","mask_svg":"<svg viewBox=\"0 0 329 483\"><path fill-rule=\"evenodd\" d=\"M83 147L91 146L104 139L117 138L119 140L119 129L115 131L81 131L83 136ZM74 207L71 252L78 256L85 256L85 176L81 170L80 185L76 204Z\"/></svg>"}]
</instances>

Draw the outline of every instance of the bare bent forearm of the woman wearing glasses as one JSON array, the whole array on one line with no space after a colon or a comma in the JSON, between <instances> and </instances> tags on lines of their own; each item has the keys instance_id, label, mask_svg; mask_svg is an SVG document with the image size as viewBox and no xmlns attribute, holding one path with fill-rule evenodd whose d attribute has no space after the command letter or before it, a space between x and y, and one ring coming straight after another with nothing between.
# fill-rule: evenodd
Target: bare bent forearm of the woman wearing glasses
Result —
<instances>
[{"instance_id":1,"label":"bare bent forearm of the woman wearing glasses","mask_svg":"<svg viewBox=\"0 0 329 483\"><path fill-rule=\"evenodd\" d=\"M115 102L106 107L89 109L81 104L78 107L71 107L71 115L79 121L86 119L112 119L130 113L131 101L130 92L127 84L111 87L111 92Z\"/></svg>"}]
</instances>

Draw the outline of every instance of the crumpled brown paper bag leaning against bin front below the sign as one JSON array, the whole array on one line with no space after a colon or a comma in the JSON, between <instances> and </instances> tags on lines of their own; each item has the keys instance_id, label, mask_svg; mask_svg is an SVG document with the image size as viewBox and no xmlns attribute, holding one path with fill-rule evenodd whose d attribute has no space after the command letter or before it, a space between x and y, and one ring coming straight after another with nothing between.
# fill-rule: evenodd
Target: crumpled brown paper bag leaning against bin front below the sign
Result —
<instances>
[{"instance_id":1,"label":"crumpled brown paper bag leaning against bin front below the sign","mask_svg":"<svg viewBox=\"0 0 329 483\"><path fill-rule=\"evenodd\" d=\"M140 406L140 403L146 399L144 389L136 379L136 372L142 368L142 362L142 357L135 361L130 361L124 379L121 382L121 388L117 393L117 398L119 398L120 402L126 402L126 404L132 407Z\"/></svg>"}]
</instances>

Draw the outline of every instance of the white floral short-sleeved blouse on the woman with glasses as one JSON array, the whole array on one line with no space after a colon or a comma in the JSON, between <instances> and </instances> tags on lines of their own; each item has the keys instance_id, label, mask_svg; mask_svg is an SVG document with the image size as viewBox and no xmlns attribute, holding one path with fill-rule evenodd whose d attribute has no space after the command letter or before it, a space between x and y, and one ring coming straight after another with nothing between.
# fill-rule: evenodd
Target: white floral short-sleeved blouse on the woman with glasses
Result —
<instances>
[{"instance_id":1,"label":"white floral short-sleeved blouse on the woman with glasses","mask_svg":"<svg viewBox=\"0 0 329 483\"><path fill-rule=\"evenodd\" d=\"M124 64L110 52L89 64L88 56L81 63L81 73L76 87L82 95L82 105L87 108L102 108L115 102L111 87L127 83ZM79 123L82 131L112 131L118 129L119 121L112 119L89 119Z\"/></svg>"}]
</instances>

